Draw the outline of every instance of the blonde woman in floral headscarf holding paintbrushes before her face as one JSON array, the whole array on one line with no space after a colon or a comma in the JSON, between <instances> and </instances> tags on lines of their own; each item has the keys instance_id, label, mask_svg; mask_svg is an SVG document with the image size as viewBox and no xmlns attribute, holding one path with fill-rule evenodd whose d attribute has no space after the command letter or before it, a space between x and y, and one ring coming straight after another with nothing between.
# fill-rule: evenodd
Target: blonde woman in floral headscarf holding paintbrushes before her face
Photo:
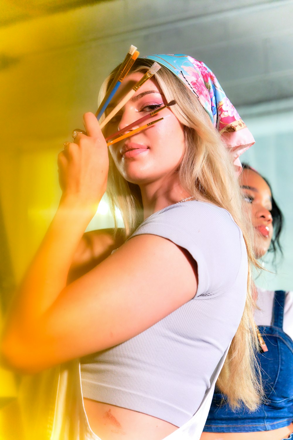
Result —
<instances>
[{"instance_id":1,"label":"blonde woman in floral headscarf holding paintbrushes before her face","mask_svg":"<svg viewBox=\"0 0 293 440\"><path fill-rule=\"evenodd\" d=\"M111 146L109 157L98 121L84 115L87 134L59 154L60 205L3 341L7 363L18 370L81 358L92 439L199 438L203 403L210 404L227 352L220 389L250 409L260 399L254 257L229 151L237 158L253 137L213 73L186 55L138 59L116 102L154 60L161 69L106 133L172 99L176 105ZM125 229L83 237L106 187ZM68 276L78 278L66 285Z\"/></svg>"}]
</instances>

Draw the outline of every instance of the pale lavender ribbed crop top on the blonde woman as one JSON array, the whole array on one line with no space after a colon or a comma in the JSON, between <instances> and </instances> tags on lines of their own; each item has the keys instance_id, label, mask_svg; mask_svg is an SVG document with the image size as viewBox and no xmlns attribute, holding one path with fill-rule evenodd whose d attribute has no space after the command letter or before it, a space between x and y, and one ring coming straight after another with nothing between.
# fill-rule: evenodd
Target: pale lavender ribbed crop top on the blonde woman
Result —
<instances>
[{"instance_id":1,"label":"pale lavender ribbed crop top on the blonde woman","mask_svg":"<svg viewBox=\"0 0 293 440\"><path fill-rule=\"evenodd\" d=\"M133 236L139 234L159 235L186 249L197 262L197 292L137 336L81 359L83 397L180 427L198 409L239 326L246 246L232 216L206 202L167 206Z\"/></svg>"}]
</instances>

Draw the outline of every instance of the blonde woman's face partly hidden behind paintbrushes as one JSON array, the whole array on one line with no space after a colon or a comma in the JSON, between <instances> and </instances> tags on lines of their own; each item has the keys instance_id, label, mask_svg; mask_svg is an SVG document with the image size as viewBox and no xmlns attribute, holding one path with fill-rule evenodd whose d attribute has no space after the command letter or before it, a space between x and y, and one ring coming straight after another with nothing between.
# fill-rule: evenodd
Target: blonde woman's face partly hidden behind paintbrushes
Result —
<instances>
[{"instance_id":1,"label":"blonde woman's face partly hidden behind paintbrushes","mask_svg":"<svg viewBox=\"0 0 293 440\"><path fill-rule=\"evenodd\" d=\"M119 88L119 95L114 97L114 102L109 106L108 113L142 76L143 73L131 73L126 77ZM109 121L107 136L165 104L166 99L158 85L152 78L149 79ZM131 183L143 185L168 179L181 163L184 152L183 125L169 108L142 124L134 125L132 130L161 117L164 118L162 121L109 147L117 169Z\"/></svg>"}]
</instances>

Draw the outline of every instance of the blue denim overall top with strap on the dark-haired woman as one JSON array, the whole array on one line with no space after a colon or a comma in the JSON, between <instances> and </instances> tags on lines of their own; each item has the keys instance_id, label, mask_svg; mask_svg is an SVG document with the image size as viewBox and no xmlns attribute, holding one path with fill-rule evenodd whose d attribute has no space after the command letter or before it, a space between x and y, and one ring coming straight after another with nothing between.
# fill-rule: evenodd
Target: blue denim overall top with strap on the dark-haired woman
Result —
<instances>
[{"instance_id":1,"label":"blue denim overall top with strap on the dark-haired woman","mask_svg":"<svg viewBox=\"0 0 293 440\"><path fill-rule=\"evenodd\" d=\"M257 354L266 403L260 405L255 412L248 411L244 406L232 411L228 403L222 403L224 396L215 392L203 431L270 431L288 426L293 421L293 340L282 330L284 304L285 292L276 291L272 325L259 326L268 347L268 352Z\"/></svg>"}]
</instances>

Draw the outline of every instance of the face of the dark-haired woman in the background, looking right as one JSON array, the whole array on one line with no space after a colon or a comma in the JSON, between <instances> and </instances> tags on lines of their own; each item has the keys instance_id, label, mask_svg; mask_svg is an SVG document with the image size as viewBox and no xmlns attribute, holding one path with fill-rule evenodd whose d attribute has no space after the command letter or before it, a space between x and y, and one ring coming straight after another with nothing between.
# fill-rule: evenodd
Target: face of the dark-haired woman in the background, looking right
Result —
<instances>
[{"instance_id":1,"label":"face of the dark-haired woman in the background, looking right","mask_svg":"<svg viewBox=\"0 0 293 440\"><path fill-rule=\"evenodd\" d=\"M251 169L243 169L240 182L255 230L254 252L260 258L268 251L273 235L271 190L264 179Z\"/></svg>"}]
</instances>

